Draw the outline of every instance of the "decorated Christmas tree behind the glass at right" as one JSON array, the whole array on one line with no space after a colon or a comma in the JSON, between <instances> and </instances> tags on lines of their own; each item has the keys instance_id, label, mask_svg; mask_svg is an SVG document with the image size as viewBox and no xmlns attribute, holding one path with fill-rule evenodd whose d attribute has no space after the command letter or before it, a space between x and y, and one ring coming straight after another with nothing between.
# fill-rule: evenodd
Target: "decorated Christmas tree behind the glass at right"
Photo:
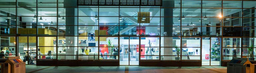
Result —
<instances>
[{"instance_id":1,"label":"decorated Christmas tree behind the glass at right","mask_svg":"<svg viewBox=\"0 0 256 73\"><path fill-rule=\"evenodd\" d=\"M211 59L217 60L220 58L219 55L220 55L220 41L216 37L211 47Z\"/></svg>"}]
</instances>

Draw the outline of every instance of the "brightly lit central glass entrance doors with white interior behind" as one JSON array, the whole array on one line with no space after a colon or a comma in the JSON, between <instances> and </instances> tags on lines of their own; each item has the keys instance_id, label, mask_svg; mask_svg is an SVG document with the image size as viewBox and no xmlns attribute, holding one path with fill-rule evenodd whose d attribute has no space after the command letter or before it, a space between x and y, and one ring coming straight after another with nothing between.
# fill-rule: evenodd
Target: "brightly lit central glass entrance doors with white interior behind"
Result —
<instances>
[{"instance_id":1,"label":"brightly lit central glass entrance doors with white interior behind","mask_svg":"<svg viewBox=\"0 0 256 73\"><path fill-rule=\"evenodd\" d=\"M139 37L120 37L120 65L139 65Z\"/></svg>"}]
</instances>

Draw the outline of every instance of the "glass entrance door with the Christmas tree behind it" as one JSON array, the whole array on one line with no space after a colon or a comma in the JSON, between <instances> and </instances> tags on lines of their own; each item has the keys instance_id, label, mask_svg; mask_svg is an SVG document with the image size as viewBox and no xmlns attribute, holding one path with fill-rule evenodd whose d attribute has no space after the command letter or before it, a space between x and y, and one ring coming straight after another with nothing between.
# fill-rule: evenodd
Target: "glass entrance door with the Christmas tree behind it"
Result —
<instances>
[{"instance_id":1,"label":"glass entrance door with the Christmas tree behind it","mask_svg":"<svg viewBox=\"0 0 256 73\"><path fill-rule=\"evenodd\" d=\"M202 37L202 65L220 65L220 37Z\"/></svg>"}]
</instances>

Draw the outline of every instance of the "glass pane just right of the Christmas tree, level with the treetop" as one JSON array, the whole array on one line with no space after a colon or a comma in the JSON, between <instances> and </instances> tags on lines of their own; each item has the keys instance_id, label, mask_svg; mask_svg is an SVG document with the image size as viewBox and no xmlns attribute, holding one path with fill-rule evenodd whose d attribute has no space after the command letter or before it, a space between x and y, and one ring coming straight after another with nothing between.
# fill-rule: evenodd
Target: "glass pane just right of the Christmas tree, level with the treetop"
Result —
<instances>
[{"instance_id":1,"label":"glass pane just right of the Christmas tree, level with the treetop","mask_svg":"<svg viewBox=\"0 0 256 73\"><path fill-rule=\"evenodd\" d=\"M241 47L241 38L223 38L223 47Z\"/></svg>"}]
</instances>

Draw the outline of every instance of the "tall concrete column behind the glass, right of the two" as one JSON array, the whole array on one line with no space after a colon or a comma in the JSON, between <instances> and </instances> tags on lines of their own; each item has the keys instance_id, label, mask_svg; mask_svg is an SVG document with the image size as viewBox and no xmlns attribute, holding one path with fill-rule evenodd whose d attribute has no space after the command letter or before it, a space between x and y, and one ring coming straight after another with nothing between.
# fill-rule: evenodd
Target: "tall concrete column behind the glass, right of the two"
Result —
<instances>
[{"instance_id":1,"label":"tall concrete column behind the glass, right of the two","mask_svg":"<svg viewBox=\"0 0 256 73\"><path fill-rule=\"evenodd\" d=\"M162 7L174 7L174 0L163 0L163 6ZM164 10L164 16L173 16L173 9L171 8L163 8ZM161 23L164 26L172 26L173 25L173 18L164 18L163 23ZM172 30L173 27L163 27L161 30L163 30L162 33L165 33L166 36L172 36ZM163 44L164 46L172 46L173 39L170 37L163 37ZM161 49L161 52L163 52L163 55L171 55L172 48L163 48ZM172 56L164 56L164 60L173 60Z\"/></svg>"}]
</instances>

